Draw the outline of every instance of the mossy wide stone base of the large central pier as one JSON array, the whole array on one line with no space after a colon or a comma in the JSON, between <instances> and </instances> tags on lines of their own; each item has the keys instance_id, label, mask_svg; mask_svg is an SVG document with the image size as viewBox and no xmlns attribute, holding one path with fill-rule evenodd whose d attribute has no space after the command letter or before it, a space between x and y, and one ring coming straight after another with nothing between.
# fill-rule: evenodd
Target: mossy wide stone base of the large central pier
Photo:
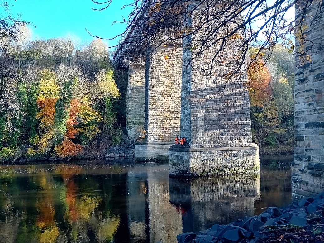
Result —
<instances>
[{"instance_id":1,"label":"mossy wide stone base of the large central pier","mask_svg":"<svg viewBox=\"0 0 324 243\"><path fill-rule=\"evenodd\" d=\"M169 148L169 176L204 177L260 173L259 146Z\"/></svg>"}]
</instances>

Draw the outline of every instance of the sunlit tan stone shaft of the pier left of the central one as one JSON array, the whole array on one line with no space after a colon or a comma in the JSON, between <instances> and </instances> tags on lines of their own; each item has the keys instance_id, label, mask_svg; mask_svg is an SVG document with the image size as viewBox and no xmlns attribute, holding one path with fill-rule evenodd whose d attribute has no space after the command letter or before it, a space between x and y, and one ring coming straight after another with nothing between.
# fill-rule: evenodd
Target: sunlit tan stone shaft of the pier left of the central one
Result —
<instances>
[{"instance_id":1,"label":"sunlit tan stone shaft of the pier left of the central one","mask_svg":"<svg viewBox=\"0 0 324 243\"><path fill-rule=\"evenodd\" d=\"M168 58L167 58L168 57ZM179 135L182 48L151 47L146 55L147 142L173 143Z\"/></svg>"}]
</instances>

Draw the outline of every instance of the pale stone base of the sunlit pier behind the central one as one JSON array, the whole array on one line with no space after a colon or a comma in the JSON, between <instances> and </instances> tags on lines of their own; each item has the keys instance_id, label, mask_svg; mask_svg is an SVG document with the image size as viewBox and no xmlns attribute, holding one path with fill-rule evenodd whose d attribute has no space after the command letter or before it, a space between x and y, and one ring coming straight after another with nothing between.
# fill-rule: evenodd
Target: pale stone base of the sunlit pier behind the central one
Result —
<instances>
[{"instance_id":1,"label":"pale stone base of the sunlit pier behind the central one","mask_svg":"<svg viewBox=\"0 0 324 243\"><path fill-rule=\"evenodd\" d=\"M170 142L135 144L134 158L138 162L168 161Z\"/></svg>"}]
</instances>

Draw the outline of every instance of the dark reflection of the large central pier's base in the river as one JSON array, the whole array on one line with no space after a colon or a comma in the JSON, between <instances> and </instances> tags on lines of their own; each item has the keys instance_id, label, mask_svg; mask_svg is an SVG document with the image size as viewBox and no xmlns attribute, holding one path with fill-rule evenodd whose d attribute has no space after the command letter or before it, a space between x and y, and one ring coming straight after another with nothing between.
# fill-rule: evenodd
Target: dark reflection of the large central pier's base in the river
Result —
<instances>
[{"instance_id":1,"label":"dark reflection of the large central pier's base in the river","mask_svg":"<svg viewBox=\"0 0 324 243\"><path fill-rule=\"evenodd\" d=\"M169 179L170 203L180 209L183 231L226 224L254 213L260 198L260 176Z\"/></svg>"}]
</instances>

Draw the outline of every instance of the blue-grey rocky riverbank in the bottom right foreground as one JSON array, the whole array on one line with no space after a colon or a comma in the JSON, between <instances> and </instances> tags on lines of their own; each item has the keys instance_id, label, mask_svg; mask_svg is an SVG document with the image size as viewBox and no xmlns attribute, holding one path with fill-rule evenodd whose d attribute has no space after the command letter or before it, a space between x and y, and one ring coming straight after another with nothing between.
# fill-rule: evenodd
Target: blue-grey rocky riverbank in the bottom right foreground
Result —
<instances>
[{"instance_id":1,"label":"blue-grey rocky riverbank in the bottom right foreground","mask_svg":"<svg viewBox=\"0 0 324 243\"><path fill-rule=\"evenodd\" d=\"M228 225L183 233L178 243L324 242L324 192Z\"/></svg>"}]
</instances>

